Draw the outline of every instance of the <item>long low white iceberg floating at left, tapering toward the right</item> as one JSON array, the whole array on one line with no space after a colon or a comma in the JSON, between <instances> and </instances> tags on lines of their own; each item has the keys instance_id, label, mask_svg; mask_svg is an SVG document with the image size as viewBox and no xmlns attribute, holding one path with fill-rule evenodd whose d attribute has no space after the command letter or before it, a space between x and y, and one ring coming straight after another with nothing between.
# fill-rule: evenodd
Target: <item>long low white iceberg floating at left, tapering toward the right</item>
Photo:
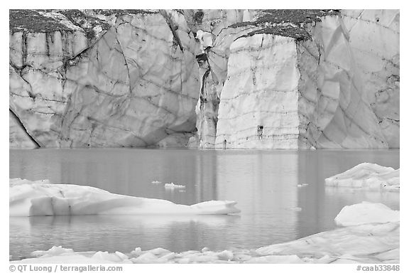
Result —
<instances>
[{"instance_id":1,"label":"long low white iceberg floating at left, tapering toward the right","mask_svg":"<svg viewBox=\"0 0 409 273\"><path fill-rule=\"evenodd\" d=\"M204 215L239 213L235 201L179 205L168 200L122 196L99 188L47 181L10 181L10 216L47 215ZM38 183L37 183L38 182Z\"/></svg>"}]
</instances>

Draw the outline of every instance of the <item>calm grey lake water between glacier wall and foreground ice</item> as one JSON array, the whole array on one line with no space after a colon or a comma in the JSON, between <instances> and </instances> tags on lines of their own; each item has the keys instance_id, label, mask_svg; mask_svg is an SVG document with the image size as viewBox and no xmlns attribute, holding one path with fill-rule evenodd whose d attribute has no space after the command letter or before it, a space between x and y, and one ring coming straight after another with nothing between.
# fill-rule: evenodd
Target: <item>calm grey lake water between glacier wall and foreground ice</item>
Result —
<instances>
[{"instance_id":1,"label":"calm grey lake water between glacier wall and foreground ice","mask_svg":"<svg viewBox=\"0 0 409 273\"><path fill-rule=\"evenodd\" d=\"M399 193L325 187L325 178L362 162L399 168L399 150L11 149L10 178L48 178L186 205L236 200L241 213L10 218L10 255L21 259L53 245L109 252L256 249L332 230L344 205L371 201L398 210ZM297 186L302 183L308 186Z\"/></svg>"}]
</instances>

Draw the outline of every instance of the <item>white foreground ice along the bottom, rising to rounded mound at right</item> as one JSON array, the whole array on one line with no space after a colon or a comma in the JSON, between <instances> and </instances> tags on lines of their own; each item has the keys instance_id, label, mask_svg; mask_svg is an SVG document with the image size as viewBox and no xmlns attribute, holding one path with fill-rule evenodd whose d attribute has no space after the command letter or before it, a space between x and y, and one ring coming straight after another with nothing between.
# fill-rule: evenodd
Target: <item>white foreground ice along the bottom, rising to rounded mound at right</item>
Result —
<instances>
[{"instance_id":1,"label":"white foreground ice along the bottom, rising to rounded mound at right","mask_svg":"<svg viewBox=\"0 0 409 273\"><path fill-rule=\"evenodd\" d=\"M363 217L368 212L371 217ZM35 258L12 263L399 263L399 218L384 219L385 215L393 216L392 212L376 203L347 206L337 215L337 223L350 225L355 218L361 218L359 223L257 250L211 251L204 247L202 251L175 253L161 247L153 250L136 247L124 254L53 247L33 252Z\"/></svg>"}]
</instances>

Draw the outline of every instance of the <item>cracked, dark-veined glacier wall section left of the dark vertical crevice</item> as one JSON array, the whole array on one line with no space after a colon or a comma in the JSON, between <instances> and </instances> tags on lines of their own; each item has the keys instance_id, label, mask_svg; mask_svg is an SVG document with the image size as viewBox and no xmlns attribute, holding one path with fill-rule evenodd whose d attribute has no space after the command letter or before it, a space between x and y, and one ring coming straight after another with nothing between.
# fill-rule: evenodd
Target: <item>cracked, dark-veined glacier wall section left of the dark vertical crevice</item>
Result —
<instances>
[{"instance_id":1,"label":"cracked, dark-veined glacier wall section left of the dark vertical crevice","mask_svg":"<svg viewBox=\"0 0 409 273\"><path fill-rule=\"evenodd\" d=\"M122 14L92 45L79 33L11 34L11 63L21 53L40 60L10 67L10 108L26 132L52 147L187 143L199 81L184 17Z\"/></svg>"}]
</instances>

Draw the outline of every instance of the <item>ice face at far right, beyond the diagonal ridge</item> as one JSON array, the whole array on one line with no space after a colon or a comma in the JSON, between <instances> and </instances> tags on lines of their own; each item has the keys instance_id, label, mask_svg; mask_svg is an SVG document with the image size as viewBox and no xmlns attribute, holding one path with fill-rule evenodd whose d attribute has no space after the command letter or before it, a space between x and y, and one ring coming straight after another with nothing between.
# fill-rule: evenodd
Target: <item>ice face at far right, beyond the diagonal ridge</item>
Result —
<instances>
[{"instance_id":1,"label":"ice face at far right, beyond the diagonal ridge","mask_svg":"<svg viewBox=\"0 0 409 273\"><path fill-rule=\"evenodd\" d=\"M390 148L399 147L399 10L344 10L342 18L363 92Z\"/></svg>"}]
</instances>

